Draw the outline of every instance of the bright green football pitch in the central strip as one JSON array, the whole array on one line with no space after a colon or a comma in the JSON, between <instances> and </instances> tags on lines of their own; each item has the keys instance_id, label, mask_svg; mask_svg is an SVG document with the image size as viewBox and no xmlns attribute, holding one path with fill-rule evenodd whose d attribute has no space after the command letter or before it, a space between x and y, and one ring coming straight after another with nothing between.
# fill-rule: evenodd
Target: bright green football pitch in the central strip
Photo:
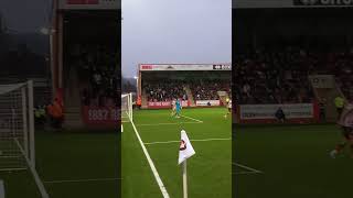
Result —
<instances>
[{"instance_id":1,"label":"bright green football pitch in the central strip","mask_svg":"<svg viewBox=\"0 0 353 198\"><path fill-rule=\"evenodd\" d=\"M194 198L232 197L232 118L226 108L183 109L171 118L170 110L138 110L133 123L124 123L122 197L182 197L182 169L178 165L180 131L185 130L196 152L188 160L189 196ZM138 140L138 135L141 142ZM156 179L146 152L159 178Z\"/></svg>"}]
</instances>

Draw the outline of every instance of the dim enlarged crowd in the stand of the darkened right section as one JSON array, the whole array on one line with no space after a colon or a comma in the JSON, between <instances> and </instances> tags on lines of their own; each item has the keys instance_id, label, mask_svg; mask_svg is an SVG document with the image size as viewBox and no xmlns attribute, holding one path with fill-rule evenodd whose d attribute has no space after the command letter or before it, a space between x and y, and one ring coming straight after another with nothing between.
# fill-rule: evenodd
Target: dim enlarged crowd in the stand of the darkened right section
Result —
<instances>
[{"instance_id":1,"label":"dim enlarged crowd in the stand of the darkened right section","mask_svg":"<svg viewBox=\"0 0 353 198\"><path fill-rule=\"evenodd\" d=\"M301 47L257 50L234 61L235 96L239 103L302 103L314 99L309 75L334 75L341 91L352 97L353 54Z\"/></svg>"}]
</instances>

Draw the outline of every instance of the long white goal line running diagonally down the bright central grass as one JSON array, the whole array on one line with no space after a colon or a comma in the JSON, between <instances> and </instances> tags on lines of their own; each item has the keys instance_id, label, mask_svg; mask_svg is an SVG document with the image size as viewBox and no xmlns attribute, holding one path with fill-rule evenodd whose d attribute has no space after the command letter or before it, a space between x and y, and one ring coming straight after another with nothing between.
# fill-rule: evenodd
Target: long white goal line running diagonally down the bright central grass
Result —
<instances>
[{"instance_id":1,"label":"long white goal line running diagonally down the bright central grass","mask_svg":"<svg viewBox=\"0 0 353 198\"><path fill-rule=\"evenodd\" d=\"M148 151L147 151L147 148L146 148L146 146L145 146L141 138L140 138L139 132L138 132L137 129L136 129L136 125L135 125L133 121L130 120L130 122L131 122L131 124L132 124L135 134L136 134L137 139L139 140L139 143L140 143L141 147L142 147L142 151L143 151L143 153L145 153L145 156L146 156L146 158L147 158L147 161L148 161L148 163L149 163L149 165L150 165L150 167L151 167L151 170L152 170L152 173L153 173L153 175L154 175L156 182L157 182L157 184L158 184L158 186L159 186L159 188L160 188L160 190L161 190L161 193L162 193L162 195L163 195L163 198L170 198L170 197L169 197L169 194L168 194L168 191L167 191L167 188L165 188L165 186L164 186L161 177L159 176L159 174L158 174L158 172L157 172L157 168L156 168L156 166L154 166L154 164L153 164L153 161L152 161L152 158L150 157L150 154L148 153Z\"/></svg>"}]
</instances>

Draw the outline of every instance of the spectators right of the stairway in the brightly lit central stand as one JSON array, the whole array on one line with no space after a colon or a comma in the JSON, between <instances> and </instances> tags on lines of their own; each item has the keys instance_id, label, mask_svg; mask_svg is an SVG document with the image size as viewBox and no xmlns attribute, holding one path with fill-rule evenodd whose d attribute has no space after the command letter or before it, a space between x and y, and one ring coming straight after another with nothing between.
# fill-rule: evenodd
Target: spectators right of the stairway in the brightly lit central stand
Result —
<instances>
[{"instance_id":1,"label":"spectators right of the stairway in the brightly lit central stand","mask_svg":"<svg viewBox=\"0 0 353 198\"><path fill-rule=\"evenodd\" d=\"M229 80L200 79L190 84L194 100L218 100L217 91L231 92Z\"/></svg>"}]
</instances>

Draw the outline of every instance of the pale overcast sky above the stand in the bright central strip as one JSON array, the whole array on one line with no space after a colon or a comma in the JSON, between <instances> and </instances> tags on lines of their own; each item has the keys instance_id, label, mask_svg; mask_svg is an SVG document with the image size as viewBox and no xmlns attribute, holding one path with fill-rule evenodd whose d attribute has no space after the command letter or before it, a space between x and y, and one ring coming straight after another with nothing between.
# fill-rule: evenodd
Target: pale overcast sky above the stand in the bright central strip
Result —
<instances>
[{"instance_id":1,"label":"pale overcast sky above the stand in the bright central strip","mask_svg":"<svg viewBox=\"0 0 353 198\"><path fill-rule=\"evenodd\" d=\"M122 75L139 63L231 63L231 0L122 0Z\"/></svg>"}]
</instances>

